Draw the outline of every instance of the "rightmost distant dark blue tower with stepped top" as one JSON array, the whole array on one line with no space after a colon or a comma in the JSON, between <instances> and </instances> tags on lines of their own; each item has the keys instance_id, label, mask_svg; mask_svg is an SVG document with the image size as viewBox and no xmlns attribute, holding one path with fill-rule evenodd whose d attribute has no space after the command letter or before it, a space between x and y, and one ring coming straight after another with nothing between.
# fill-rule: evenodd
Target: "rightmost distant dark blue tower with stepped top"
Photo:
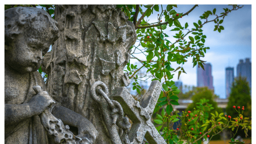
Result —
<instances>
[{"instance_id":1,"label":"rightmost distant dark blue tower with stepped top","mask_svg":"<svg viewBox=\"0 0 256 144\"><path fill-rule=\"evenodd\" d=\"M244 60L239 60L239 64L236 66L236 76L246 77L249 82L250 89L252 88L252 63L250 58L245 58Z\"/></svg>"}]
</instances>

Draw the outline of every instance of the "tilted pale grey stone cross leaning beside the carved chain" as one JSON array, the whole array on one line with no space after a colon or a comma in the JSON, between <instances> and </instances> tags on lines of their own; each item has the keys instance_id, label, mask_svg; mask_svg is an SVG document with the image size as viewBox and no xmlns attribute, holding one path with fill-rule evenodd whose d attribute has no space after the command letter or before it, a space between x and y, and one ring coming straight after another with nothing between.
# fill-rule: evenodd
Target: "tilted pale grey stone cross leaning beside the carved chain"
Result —
<instances>
[{"instance_id":1,"label":"tilted pale grey stone cross leaning beside the carved chain","mask_svg":"<svg viewBox=\"0 0 256 144\"><path fill-rule=\"evenodd\" d=\"M149 144L166 144L151 122L151 116L161 88L162 86L159 81L152 81L140 102L136 101L125 87L118 87L114 90L113 100L118 101L122 105L125 115L133 122L128 134L130 144L142 144L144 137Z\"/></svg>"}]
</instances>

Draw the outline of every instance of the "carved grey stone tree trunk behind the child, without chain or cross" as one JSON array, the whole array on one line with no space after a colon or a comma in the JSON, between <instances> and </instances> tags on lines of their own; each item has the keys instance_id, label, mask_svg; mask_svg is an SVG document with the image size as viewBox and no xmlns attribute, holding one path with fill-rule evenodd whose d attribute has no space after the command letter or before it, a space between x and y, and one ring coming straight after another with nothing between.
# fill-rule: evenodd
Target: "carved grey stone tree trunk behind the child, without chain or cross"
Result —
<instances>
[{"instance_id":1,"label":"carved grey stone tree trunk behind the child, without chain or cross","mask_svg":"<svg viewBox=\"0 0 256 144\"><path fill-rule=\"evenodd\" d=\"M93 123L99 132L96 144L110 144L111 135L90 86L102 81L111 94L130 84L123 69L137 37L134 24L115 5L56 5L55 20L60 37L42 66L48 74L47 91Z\"/></svg>"}]
</instances>

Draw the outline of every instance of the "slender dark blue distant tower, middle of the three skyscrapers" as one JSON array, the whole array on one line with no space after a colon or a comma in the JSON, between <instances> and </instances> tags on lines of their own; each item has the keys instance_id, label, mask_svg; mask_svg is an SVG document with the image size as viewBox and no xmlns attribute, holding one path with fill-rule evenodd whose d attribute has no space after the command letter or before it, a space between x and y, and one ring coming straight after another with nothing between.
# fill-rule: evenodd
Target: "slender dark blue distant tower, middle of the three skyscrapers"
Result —
<instances>
[{"instance_id":1,"label":"slender dark blue distant tower, middle of the three skyscrapers","mask_svg":"<svg viewBox=\"0 0 256 144\"><path fill-rule=\"evenodd\" d=\"M226 98L230 96L233 81L234 81L234 68L227 67L226 68Z\"/></svg>"}]
</instances>

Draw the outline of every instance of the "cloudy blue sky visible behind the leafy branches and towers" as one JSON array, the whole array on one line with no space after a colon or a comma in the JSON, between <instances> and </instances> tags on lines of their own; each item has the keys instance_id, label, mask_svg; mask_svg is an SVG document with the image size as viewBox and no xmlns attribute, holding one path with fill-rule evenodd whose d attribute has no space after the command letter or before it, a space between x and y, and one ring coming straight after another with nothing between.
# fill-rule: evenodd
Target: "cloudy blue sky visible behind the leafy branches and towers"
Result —
<instances>
[{"instance_id":1,"label":"cloudy blue sky visible behind the leafy branches and towers","mask_svg":"<svg viewBox=\"0 0 256 144\"><path fill-rule=\"evenodd\" d=\"M175 11L178 13L185 13L189 11L194 5L177 5L174 7ZM228 5L199 5L188 16L184 16L179 19L181 26L184 26L187 22L188 29L194 28L193 23L198 23L201 16L207 10L212 11L216 8L216 14L224 12L223 8L232 9L232 6ZM163 5L163 9L166 9L166 5ZM143 9L144 10L144 9ZM156 22L157 14L160 12L154 11L153 14L148 17L149 22ZM213 86L215 94L219 95L220 98L225 98L225 68L230 66L234 67L234 76L236 77L236 66L239 63L239 59L250 58L252 55L252 28L251 28L251 5L244 5L243 8L232 11L225 18L221 26L224 26L224 30L219 33L218 31L213 31L215 23L207 23L203 26L203 34L207 36L205 41L205 47L210 47L207 50L205 57L201 60L207 61L206 63L211 63L212 65L212 76L213 76ZM140 17L140 15L138 16ZM209 17L209 20L214 19L214 16ZM165 19L163 18L163 21ZM201 20L204 23L205 20ZM170 31L174 27L167 26L163 32L169 35L167 37L171 42L175 42L175 31ZM189 35L188 35L189 36ZM188 36L185 37L188 41ZM190 35L192 36L192 35ZM138 45L138 42L135 43ZM178 45L175 45L178 46ZM146 60L144 55L136 55L136 57ZM197 75L196 66L193 67L192 58L188 58L188 61L183 65L186 73L180 75L179 81L183 82L184 85L196 86ZM131 63L140 64L137 60L131 59ZM176 69L179 65L175 62L171 63L171 67ZM172 73L173 74L173 73ZM174 78L172 81L177 80L177 72L174 72ZM148 81L148 85L150 81Z\"/></svg>"}]
</instances>

